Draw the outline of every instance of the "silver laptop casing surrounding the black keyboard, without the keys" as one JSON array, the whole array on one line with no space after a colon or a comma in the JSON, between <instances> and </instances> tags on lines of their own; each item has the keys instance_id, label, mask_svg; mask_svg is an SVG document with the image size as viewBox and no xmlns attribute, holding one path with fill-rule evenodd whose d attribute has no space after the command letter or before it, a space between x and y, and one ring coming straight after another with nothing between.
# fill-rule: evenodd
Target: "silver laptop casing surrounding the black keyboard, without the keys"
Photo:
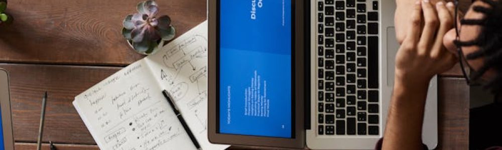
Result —
<instances>
[{"instance_id":1,"label":"silver laptop casing surrounding the black keyboard, without the keys","mask_svg":"<svg viewBox=\"0 0 502 150\"><path fill-rule=\"evenodd\" d=\"M367 0L370 1L370 0ZM306 130L307 146L312 149L373 149L376 141L383 137L389 103L394 82L395 53L399 48L394 32L395 0L379 0L379 100L380 100L380 131L379 135L318 135L317 134L317 2L311 0L311 121L310 129ZM425 108L422 131L423 142L433 149L438 143L437 119L437 77L430 82Z\"/></svg>"}]
</instances>

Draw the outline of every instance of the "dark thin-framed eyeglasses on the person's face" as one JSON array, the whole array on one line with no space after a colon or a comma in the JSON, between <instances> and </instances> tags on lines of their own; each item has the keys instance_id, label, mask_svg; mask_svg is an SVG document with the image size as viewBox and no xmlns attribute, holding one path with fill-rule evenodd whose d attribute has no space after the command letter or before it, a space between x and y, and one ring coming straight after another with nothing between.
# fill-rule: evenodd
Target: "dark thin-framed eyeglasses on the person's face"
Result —
<instances>
[{"instance_id":1,"label":"dark thin-framed eyeglasses on the person's face","mask_svg":"<svg viewBox=\"0 0 502 150\"><path fill-rule=\"evenodd\" d=\"M457 19L457 18L458 18L458 0L455 0L455 19ZM457 41L460 41L460 34L459 34L460 32L458 29L458 23L455 22L454 26L455 26L455 33L456 33L455 39ZM459 57L458 61L460 63L460 67L462 69L462 73L464 74L464 77L465 77L467 84L479 85L481 82L479 77L475 78L474 80L472 78L472 75L475 74L475 71L474 71L474 69L472 69L472 67L467 62L467 58L465 58L464 53L462 51L462 46L457 45L457 53L458 53L458 57Z\"/></svg>"}]
</instances>

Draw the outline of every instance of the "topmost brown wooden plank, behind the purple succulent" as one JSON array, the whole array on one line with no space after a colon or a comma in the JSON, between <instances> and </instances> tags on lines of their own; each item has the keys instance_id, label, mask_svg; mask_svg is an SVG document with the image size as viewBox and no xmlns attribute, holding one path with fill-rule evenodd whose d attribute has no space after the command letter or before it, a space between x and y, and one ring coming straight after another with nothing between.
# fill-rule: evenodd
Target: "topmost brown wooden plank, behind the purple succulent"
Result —
<instances>
[{"instance_id":1,"label":"topmost brown wooden plank, behind the purple succulent","mask_svg":"<svg viewBox=\"0 0 502 150\"><path fill-rule=\"evenodd\" d=\"M0 62L127 65L143 56L121 34L141 0L9 0ZM206 0L157 0L177 36L206 19Z\"/></svg>"}]
</instances>

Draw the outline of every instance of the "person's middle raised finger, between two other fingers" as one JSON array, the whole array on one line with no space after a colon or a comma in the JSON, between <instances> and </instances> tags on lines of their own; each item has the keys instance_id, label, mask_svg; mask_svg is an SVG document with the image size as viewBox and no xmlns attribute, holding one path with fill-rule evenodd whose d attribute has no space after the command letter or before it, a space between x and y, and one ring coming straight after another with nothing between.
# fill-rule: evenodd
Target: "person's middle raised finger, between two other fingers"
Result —
<instances>
[{"instance_id":1,"label":"person's middle raised finger, between two other fingers","mask_svg":"<svg viewBox=\"0 0 502 150\"><path fill-rule=\"evenodd\" d=\"M425 24L417 46L419 48L419 53L424 54L432 47L439 20L437 18L437 12L429 0L422 1L422 9L424 11Z\"/></svg>"}]
</instances>

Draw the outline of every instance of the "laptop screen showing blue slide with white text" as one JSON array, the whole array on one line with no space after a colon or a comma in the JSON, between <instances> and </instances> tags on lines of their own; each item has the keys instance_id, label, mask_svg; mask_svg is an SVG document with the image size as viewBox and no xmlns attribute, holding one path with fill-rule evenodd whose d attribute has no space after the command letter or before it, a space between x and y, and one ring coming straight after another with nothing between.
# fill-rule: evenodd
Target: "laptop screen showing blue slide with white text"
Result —
<instances>
[{"instance_id":1,"label":"laptop screen showing blue slide with white text","mask_svg":"<svg viewBox=\"0 0 502 150\"><path fill-rule=\"evenodd\" d=\"M209 140L303 147L301 0L209 1Z\"/></svg>"}]
</instances>

